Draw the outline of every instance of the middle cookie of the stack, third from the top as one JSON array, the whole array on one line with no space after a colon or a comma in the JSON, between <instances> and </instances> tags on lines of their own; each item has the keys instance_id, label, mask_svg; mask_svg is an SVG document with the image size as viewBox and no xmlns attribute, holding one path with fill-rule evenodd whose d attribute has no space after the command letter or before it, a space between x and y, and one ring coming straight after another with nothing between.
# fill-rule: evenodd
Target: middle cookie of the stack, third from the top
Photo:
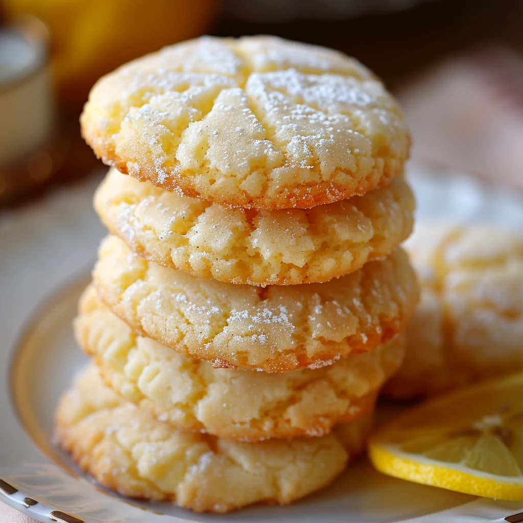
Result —
<instances>
[{"instance_id":1,"label":"middle cookie of the stack, third from the top","mask_svg":"<svg viewBox=\"0 0 523 523\"><path fill-rule=\"evenodd\" d=\"M402 332L418 297L401 249L337 280L265 288L161 267L115 236L98 254L93 280L113 312L142 334L214 367L286 372L330 365Z\"/></svg>"}]
</instances>

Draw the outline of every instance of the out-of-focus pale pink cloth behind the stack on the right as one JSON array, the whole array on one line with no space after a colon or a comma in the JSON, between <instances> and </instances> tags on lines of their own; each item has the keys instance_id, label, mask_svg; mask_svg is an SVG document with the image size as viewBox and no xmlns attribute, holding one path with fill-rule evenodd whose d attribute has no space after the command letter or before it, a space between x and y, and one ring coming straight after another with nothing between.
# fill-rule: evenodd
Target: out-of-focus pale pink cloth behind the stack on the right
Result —
<instances>
[{"instance_id":1,"label":"out-of-focus pale pink cloth behind the stack on the right","mask_svg":"<svg viewBox=\"0 0 523 523\"><path fill-rule=\"evenodd\" d=\"M485 49L443 62L399 93L412 157L523 189L523 60Z\"/></svg>"}]
</instances>

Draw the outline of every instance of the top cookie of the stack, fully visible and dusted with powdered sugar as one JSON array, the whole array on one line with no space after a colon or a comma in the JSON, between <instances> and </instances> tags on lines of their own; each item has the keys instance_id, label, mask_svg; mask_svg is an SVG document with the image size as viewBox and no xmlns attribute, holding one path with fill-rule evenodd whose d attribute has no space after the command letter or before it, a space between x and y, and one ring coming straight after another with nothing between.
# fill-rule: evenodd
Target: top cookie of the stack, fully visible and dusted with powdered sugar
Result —
<instances>
[{"instance_id":1,"label":"top cookie of the stack, fully visible and dusted with powdered sugar","mask_svg":"<svg viewBox=\"0 0 523 523\"><path fill-rule=\"evenodd\" d=\"M202 37L93 87L82 133L108 165L233 207L306 209L402 172L394 98L353 58L275 37Z\"/></svg>"}]
</instances>

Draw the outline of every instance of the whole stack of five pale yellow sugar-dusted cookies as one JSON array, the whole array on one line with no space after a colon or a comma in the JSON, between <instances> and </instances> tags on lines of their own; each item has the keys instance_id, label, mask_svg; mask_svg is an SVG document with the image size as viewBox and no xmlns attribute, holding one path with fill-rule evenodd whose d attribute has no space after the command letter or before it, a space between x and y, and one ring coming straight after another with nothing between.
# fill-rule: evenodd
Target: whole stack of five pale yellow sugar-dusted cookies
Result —
<instances>
[{"instance_id":1,"label":"whole stack of five pale yellow sugar-dusted cookies","mask_svg":"<svg viewBox=\"0 0 523 523\"><path fill-rule=\"evenodd\" d=\"M62 446L121 494L290 503L365 446L417 283L410 140L335 51L201 38L102 78L82 115L110 231L75 333Z\"/></svg>"}]
</instances>

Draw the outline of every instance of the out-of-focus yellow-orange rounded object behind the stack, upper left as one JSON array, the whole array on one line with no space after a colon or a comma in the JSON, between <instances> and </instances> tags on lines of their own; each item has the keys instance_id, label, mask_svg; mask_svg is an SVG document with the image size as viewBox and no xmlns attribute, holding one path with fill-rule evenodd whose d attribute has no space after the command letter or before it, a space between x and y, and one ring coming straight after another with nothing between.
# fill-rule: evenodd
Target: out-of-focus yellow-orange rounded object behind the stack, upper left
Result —
<instances>
[{"instance_id":1,"label":"out-of-focus yellow-orange rounded object behind the stack, upper left","mask_svg":"<svg viewBox=\"0 0 523 523\"><path fill-rule=\"evenodd\" d=\"M59 96L73 105L118 65L201 35L217 10L215 0L4 0L4 8L47 24Z\"/></svg>"}]
</instances>

